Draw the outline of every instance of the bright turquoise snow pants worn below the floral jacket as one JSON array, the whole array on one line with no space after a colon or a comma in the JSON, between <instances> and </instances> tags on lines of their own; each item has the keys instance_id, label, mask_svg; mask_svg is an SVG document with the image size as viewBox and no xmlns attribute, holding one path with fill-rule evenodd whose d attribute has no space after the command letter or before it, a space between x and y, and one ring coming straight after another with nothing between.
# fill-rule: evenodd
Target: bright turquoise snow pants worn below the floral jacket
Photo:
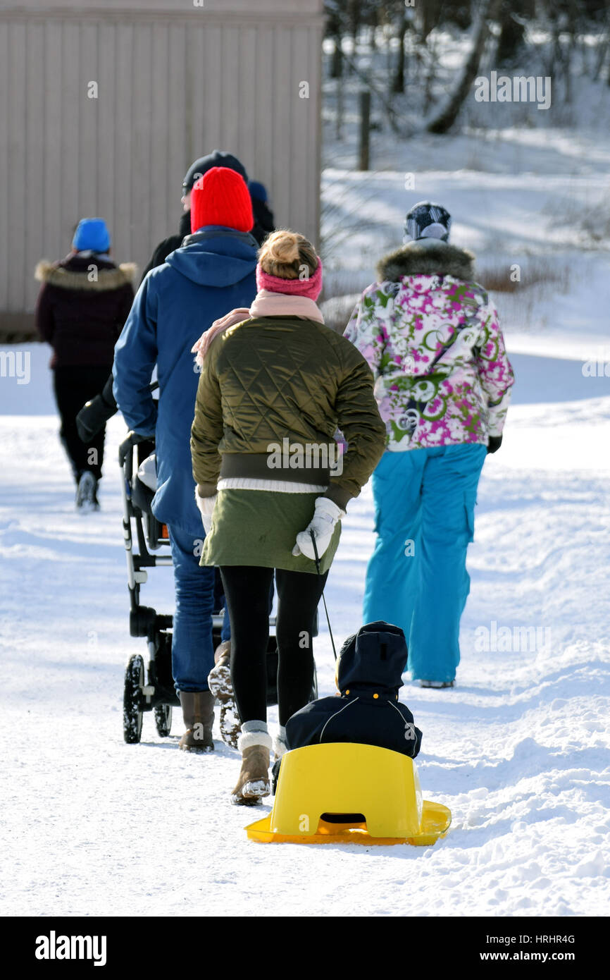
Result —
<instances>
[{"instance_id":1,"label":"bright turquoise snow pants worn below the floral jacket","mask_svg":"<svg viewBox=\"0 0 610 980\"><path fill-rule=\"evenodd\" d=\"M385 453L373 473L377 541L363 621L400 626L413 679L455 677L470 590L466 550L486 455L477 443Z\"/></svg>"}]
</instances>

